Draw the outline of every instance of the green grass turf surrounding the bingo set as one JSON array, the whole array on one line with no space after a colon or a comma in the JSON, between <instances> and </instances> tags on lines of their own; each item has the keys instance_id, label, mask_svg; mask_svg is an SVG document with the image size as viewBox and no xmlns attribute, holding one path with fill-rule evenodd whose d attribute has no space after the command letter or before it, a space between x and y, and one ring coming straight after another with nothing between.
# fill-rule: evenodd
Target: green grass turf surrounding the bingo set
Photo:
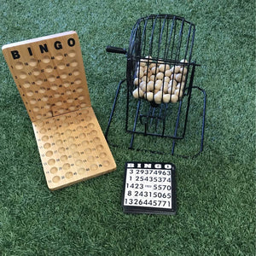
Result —
<instances>
[{"instance_id":1,"label":"green grass turf surrounding the bingo set","mask_svg":"<svg viewBox=\"0 0 256 256\"><path fill-rule=\"evenodd\" d=\"M195 23L193 59L201 64L195 84L207 91L205 148L199 157L111 147L115 172L50 192L31 121L0 54L1 255L254 255L254 1L0 4L2 45L78 32L90 99L103 131L126 64L125 55L107 54L105 47L127 48L132 26L145 15L181 15ZM122 116L115 125L122 126ZM122 131L115 132L120 139ZM122 212L124 166L130 160L177 166L176 216Z\"/></svg>"}]
</instances>

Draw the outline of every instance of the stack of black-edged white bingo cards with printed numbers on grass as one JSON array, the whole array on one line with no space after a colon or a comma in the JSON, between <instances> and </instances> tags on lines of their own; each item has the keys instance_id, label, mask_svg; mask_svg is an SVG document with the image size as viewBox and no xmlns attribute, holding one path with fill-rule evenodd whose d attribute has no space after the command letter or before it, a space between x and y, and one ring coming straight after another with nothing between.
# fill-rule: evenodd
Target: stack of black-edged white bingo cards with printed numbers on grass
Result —
<instances>
[{"instance_id":1,"label":"stack of black-edged white bingo cards with printed numbers on grass","mask_svg":"<svg viewBox=\"0 0 256 256\"><path fill-rule=\"evenodd\" d=\"M125 213L176 213L175 166L127 162L122 206Z\"/></svg>"}]
</instances>

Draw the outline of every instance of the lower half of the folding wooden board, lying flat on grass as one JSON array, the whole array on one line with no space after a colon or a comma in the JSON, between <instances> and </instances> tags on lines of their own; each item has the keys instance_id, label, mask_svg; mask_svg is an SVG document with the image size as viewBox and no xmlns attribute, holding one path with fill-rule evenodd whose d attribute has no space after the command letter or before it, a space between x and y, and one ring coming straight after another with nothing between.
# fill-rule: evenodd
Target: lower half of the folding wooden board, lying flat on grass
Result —
<instances>
[{"instance_id":1,"label":"lower half of the folding wooden board, lying flat on grass","mask_svg":"<svg viewBox=\"0 0 256 256\"><path fill-rule=\"evenodd\" d=\"M49 188L115 168L92 108L33 123Z\"/></svg>"}]
</instances>

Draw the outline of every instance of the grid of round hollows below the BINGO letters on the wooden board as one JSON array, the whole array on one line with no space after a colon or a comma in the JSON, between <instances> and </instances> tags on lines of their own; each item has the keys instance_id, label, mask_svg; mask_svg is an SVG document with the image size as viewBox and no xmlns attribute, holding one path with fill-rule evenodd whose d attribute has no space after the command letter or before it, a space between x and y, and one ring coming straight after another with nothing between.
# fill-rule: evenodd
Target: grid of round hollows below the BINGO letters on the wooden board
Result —
<instances>
[{"instance_id":1,"label":"grid of round hollows below the BINGO letters on the wooden board","mask_svg":"<svg viewBox=\"0 0 256 256\"><path fill-rule=\"evenodd\" d=\"M88 106L84 72L75 49L15 61L19 90L32 119L49 118Z\"/></svg>"}]
</instances>

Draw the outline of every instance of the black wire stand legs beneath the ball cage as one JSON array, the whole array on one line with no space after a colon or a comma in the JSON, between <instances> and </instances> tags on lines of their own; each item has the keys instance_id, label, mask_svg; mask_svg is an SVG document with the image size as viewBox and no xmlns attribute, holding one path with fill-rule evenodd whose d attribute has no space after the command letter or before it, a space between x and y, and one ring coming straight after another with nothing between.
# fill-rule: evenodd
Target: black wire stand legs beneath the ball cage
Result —
<instances>
[{"instance_id":1,"label":"black wire stand legs beneath the ball cage","mask_svg":"<svg viewBox=\"0 0 256 256\"><path fill-rule=\"evenodd\" d=\"M108 144L113 146L113 147L117 147L117 148L119 147L119 145L113 144L113 143L109 142L109 140L108 140L108 132L110 130L110 126L111 126L112 119L113 119L113 114L115 112L115 108L116 108L116 105L117 105L117 102L118 102L119 91L120 91L121 85L124 84L125 81L126 81L126 79L123 79L123 80L119 81L119 85L117 87L117 90L115 92L115 96L114 96L114 99L113 99L113 106L112 106L112 109L111 109L111 113L110 113L109 119L108 119L107 129L105 131L105 137L106 137L106 140L107 140ZM190 88L191 88L191 90L188 92L190 94L191 94L192 89L200 90L201 93L203 94L203 112L202 112L202 120L201 120L201 143L200 143L200 149L199 149L199 151L196 154L193 154L193 155L175 154L176 156L183 157L183 158L195 158L196 156L201 154L201 152L203 151L203 148L204 148L205 120L206 120L206 108L207 108L207 93L206 93L205 90L201 89L198 86L191 86ZM127 90L127 93L129 93L128 90ZM190 97L189 97L189 99L190 99ZM180 112L181 112L182 103L183 103L182 101L179 102L179 108L178 108L178 111L177 111L177 120L176 120L176 125L175 125L174 137L177 136L177 128L178 128L178 124L179 124L179 118L180 118ZM127 101L126 116L128 114L128 111L129 111L128 104L129 104L129 102ZM188 102L188 104L189 104L189 102ZM137 112L136 112L136 116L135 116L135 119L134 119L134 124L133 124L132 131L127 131L127 126L128 126L127 125L127 119L125 120L125 131L131 133L131 141L130 141L130 145L128 147L129 149L137 150L137 151L146 151L146 152L150 152L150 153L154 153L154 154L166 154L165 152L157 151L157 150L148 150L148 149L143 149L143 148L133 148L135 133L143 134L143 136L170 137L170 136L166 136L164 134L165 133L165 118L162 118L160 116L160 113L162 112L162 108L164 107L164 105L166 105L166 107L165 107L165 113L166 113L166 109L168 108L168 104L162 103L160 105L160 107L154 107L153 105L151 105L149 107L149 109L148 109L148 114L147 115L144 115L144 114L140 114L139 115L139 109L140 109L140 106L141 106L141 100L138 100L138 102L137 102ZM164 122L164 125L163 125L164 128L163 128L163 131L162 131L161 134L155 134L155 133L148 133L147 132L148 131L148 120L150 119L149 126L151 126L151 125L153 125L153 121L156 118L154 116L155 108L160 108L160 113L159 113L159 116L157 117L157 122L155 123L155 130L157 130L157 126L159 125L160 119L162 119L163 122ZM188 113L189 113L189 109L188 109L188 111L186 113L185 124L187 124ZM136 131L138 118L139 118L139 121L141 122L141 124L143 124L143 118L146 118L146 121L144 122L144 132L137 132ZM175 151L175 146L176 146L177 140L180 140L182 138L183 137L172 138L172 152L171 152L172 155L174 155L174 151Z\"/></svg>"}]
</instances>

